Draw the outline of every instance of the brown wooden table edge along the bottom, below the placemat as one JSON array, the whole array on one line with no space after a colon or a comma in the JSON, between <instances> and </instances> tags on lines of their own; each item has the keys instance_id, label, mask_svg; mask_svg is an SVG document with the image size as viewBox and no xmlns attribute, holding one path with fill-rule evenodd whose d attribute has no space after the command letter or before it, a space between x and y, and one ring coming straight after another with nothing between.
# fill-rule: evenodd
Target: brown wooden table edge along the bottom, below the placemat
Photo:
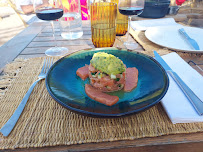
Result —
<instances>
[{"instance_id":1,"label":"brown wooden table edge along the bottom, below the placemat","mask_svg":"<svg viewBox=\"0 0 203 152\"><path fill-rule=\"evenodd\" d=\"M71 146L30 148L29 152L202 152L203 133L167 135L136 140L89 143ZM25 152L27 149L16 149Z\"/></svg>"}]
</instances>

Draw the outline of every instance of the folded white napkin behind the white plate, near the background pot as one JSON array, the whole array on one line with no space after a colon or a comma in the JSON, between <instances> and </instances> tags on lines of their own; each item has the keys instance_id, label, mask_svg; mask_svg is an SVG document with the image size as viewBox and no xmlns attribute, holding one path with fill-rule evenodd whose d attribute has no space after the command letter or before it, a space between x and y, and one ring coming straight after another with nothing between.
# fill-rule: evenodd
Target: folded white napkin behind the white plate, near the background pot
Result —
<instances>
[{"instance_id":1,"label":"folded white napkin behind the white plate, near the background pot","mask_svg":"<svg viewBox=\"0 0 203 152\"><path fill-rule=\"evenodd\" d=\"M163 18L163 19L131 21L130 25L134 30L145 31L149 27L172 26L172 25L176 26L176 25L180 25L180 24L176 23L174 18Z\"/></svg>"}]
</instances>

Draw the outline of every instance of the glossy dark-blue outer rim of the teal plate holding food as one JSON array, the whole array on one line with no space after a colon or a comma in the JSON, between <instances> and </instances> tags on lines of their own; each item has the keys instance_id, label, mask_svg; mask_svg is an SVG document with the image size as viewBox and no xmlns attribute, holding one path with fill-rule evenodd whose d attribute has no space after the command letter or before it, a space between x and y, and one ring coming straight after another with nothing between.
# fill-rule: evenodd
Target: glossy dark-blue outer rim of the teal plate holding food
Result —
<instances>
[{"instance_id":1,"label":"glossy dark-blue outer rim of the teal plate holding food","mask_svg":"<svg viewBox=\"0 0 203 152\"><path fill-rule=\"evenodd\" d=\"M80 53L81 51L100 51L100 50L106 50L106 49L111 49L111 50L119 50L119 51L126 51L126 52L132 52L132 53L136 53L136 54L141 54L141 55L144 55L146 57L148 57L149 59L151 59L152 61L154 61L158 66L159 68L162 70L162 72L164 73L165 77L166 77L166 85L164 87L164 91L162 93L162 95L156 100L154 101L153 103L145 106L145 107L142 107L138 110L132 110L130 112L124 112L124 113L119 113L119 114L102 114L102 113L95 113L95 112L89 112L89 111L85 111L85 110L81 110L81 109L77 109L77 108L74 108L74 107L71 107L69 105L66 105L64 104L62 101L60 101L59 99L57 99L55 97L54 94L52 94L51 90L50 90L50 87L48 86L48 76L49 76L49 73L50 71L52 70L52 67L54 67L55 64L57 64L58 62L60 62L61 60L63 60L65 57L67 56L70 56L72 54L75 54L75 53ZM144 53L141 53L141 52L136 52L136 51L133 51L133 50L129 50L129 49L121 49L121 48L116 48L116 47L105 47L105 48L91 48L91 49L82 49L80 51L77 51L77 52L73 52L73 53L70 53L60 59L58 59L49 69L47 75L46 75L46 78L45 78L45 84L46 84L46 89L48 90L48 93L51 95L51 97L58 103L60 104L61 106L63 106L64 108L70 110L70 111L73 111L75 113L78 113L78 114L82 114L82 115L87 115L87 116L91 116L91 117L121 117L121 116L127 116L127 115L131 115L131 114L134 114L134 113L138 113L138 112L141 112L141 111L145 111L151 107L153 107L154 105L158 104L160 102L160 100L165 96L165 94L167 93L168 91L168 88L169 88L169 77L165 71L165 69L162 67L162 65L156 61L153 57L149 56L149 55L146 55Z\"/></svg>"}]
</instances>

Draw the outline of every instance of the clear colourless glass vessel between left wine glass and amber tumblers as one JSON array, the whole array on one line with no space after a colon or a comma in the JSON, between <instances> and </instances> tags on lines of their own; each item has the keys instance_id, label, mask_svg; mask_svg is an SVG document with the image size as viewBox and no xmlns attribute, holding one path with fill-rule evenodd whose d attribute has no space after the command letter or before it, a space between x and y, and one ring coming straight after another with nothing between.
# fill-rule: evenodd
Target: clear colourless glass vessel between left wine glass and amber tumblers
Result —
<instances>
[{"instance_id":1,"label":"clear colourless glass vessel between left wine glass and amber tumblers","mask_svg":"<svg viewBox=\"0 0 203 152\"><path fill-rule=\"evenodd\" d=\"M60 18L61 36L64 39L78 39L83 35L80 0L62 0L64 8Z\"/></svg>"}]
</instances>

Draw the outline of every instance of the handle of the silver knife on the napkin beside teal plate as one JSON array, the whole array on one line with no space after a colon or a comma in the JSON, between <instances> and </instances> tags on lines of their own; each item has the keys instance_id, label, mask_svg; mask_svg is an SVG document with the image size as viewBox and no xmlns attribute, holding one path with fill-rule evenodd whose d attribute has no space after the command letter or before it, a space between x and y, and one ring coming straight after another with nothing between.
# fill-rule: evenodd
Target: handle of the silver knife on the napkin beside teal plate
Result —
<instances>
[{"instance_id":1,"label":"handle of the silver knife on the napkin beside teal plate","mask_svg":"<svg viewBox=\"0 0 203 152\"><path fill-rule=\"evenodd\" d=\"M186 97L190 100L199 115L203 115L203 102L195 93L183 82L183 80L173 71L167 71L168 74L176 81Z\"/></svg>"}]
</instances>

